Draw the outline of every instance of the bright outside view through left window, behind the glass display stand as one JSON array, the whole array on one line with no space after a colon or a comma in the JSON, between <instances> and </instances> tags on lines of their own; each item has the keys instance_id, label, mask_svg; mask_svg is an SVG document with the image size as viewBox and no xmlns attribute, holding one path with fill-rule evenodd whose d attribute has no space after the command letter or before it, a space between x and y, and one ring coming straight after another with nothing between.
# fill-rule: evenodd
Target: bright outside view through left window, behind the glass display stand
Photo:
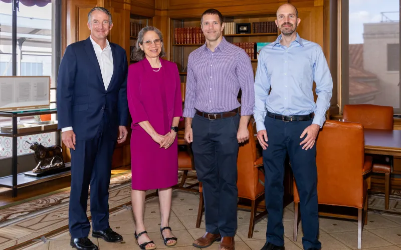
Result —
<instances>
[{"instance_id":1,"label":"bright outside view through left window, behind the glass display stand","mask_svg":"<svg viewBox=\"0 0 401 250\"><path fill-rule=\"evenodd\" d=\"M45 3L46 4L46 3ZM0 76L11 76L12 61L12 3L0 1ZM53 21L53 22L52 22ZM45 6L26 6L19 3L17 11L17 75L52 76L52 2ZM53 77L52 77L53 78ZM52 87L55 87L52 82ZM55 90L51 100L55 101ZM21 117L20 123L45 120L48 117ZM0 126L11 125L11 118L0 117ZM55 143L56 133L34 134L18 137L18 155L30 153L28 142L41 142L45 146ZM0 158L12 155L11 137L0 136Z\"/></svg>"}]
</instances>

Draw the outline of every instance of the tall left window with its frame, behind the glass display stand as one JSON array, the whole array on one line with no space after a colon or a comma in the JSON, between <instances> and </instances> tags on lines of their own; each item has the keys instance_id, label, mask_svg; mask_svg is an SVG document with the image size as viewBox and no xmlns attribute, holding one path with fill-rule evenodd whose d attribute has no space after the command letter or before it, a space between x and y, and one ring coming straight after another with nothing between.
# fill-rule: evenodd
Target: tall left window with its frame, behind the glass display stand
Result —
<instances>
[{"instance_id":1,"label":"tall left window with its frame, behind the glass display stand","mask_svg":"<svg viewBox=\"0 0 401 250\"><path fill-rule=\"evenodd\" d=\"M51 107L56 105L56 78L61 54L60 3L61 0L0 0L0 75L51 76ZM19 122L47 119L49 117L45 115L27 116L21 117ZM57 119L56 115L51 119ZM11 124L11 118L0 117L0 124ZM58 143L59 136L58 132L23 136L18 138L18 143L38 141L50 146ZM12 147L7 146L9 139L0 136L0 158L11 156ZM30 152L26 145L18 149L18 155Z\"/></svg>"}]
</instances>

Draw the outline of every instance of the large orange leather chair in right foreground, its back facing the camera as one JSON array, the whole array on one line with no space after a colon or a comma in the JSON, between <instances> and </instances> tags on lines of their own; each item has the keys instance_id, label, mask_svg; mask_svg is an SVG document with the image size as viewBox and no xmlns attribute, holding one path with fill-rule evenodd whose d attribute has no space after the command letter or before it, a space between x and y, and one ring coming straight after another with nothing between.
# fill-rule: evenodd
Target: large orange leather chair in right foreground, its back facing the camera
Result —
<instances>
[{"instance_id":1,"label":"large orange leather chair in right foreground, its back facing the camera","mask_svg":"<svg viewBox=\"0 0 401 250\"><path fill-rule=\"evenodd\" d=\"M327 120L316 141L318 203L355 207L358 216L322 213L320 215L358 220L358 249L361 249L362 222L367 222L367 181L372 157L364 155L362 124ZM299 194L294 183L294 241L297 239ZM364 216L362 213L364 211Z\"/></svg>"}]
</instances>

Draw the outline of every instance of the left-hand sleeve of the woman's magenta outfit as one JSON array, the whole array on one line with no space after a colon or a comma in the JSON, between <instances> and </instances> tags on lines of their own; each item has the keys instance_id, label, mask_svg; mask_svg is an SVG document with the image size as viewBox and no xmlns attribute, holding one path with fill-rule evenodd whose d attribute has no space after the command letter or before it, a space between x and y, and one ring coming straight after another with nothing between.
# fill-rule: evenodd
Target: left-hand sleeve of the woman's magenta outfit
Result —
<instances>
[{"instance_id":1,"label":"left-hand sleeve of the woman's magenta outfit","mask_svg":"<svg viewBox=\"0 0 401 250\"><path fill-rule=\"evenodd\" d=\"M133 67L128 68L127 97L128 108L132 117L133 124L148 120L145 108L140 101L141 90L139 86L138 73L141 72L135 72Z\"/></svg>"}]
</instances>

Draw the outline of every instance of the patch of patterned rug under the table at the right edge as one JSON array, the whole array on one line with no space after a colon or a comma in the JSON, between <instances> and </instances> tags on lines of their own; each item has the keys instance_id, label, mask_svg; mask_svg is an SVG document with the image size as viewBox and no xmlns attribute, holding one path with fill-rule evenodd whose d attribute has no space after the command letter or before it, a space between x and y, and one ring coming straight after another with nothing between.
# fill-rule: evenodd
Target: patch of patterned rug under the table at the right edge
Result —
<instances>
[{"instance_id":1,"label":"patch of patterned rug under the table at the right edge","mask_svg":"<svg viewBox=\"0 0 401 250\"><path fill-rule=\"evenodd\" d=\"M369 192L368 210L380 213L401 215L401 190L393 190L390 194L388 209L384 209L384 193Z\"/></svg>"}]
</instances>

